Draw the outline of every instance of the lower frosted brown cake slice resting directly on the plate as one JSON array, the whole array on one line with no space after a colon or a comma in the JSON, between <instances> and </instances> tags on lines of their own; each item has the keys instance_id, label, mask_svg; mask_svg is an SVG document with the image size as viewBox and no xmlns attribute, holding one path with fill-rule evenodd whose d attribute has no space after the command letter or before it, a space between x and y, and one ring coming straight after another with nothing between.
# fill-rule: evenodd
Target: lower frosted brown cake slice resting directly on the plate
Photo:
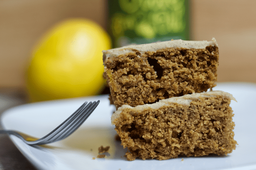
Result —
<instances>
[{"instance_id":1,"label":"lower frosted brown cake slice resting directly on the plate","mask_svg":"<svg viewBox=\"0 0 256 170\"><path fill-rule=\"evenodd\" d=\"M127 160L166 160L178 156L227 155L236 147L229 93L211 91L131 107L111 121L128 148Z\"/></svg>"}]
</instances>

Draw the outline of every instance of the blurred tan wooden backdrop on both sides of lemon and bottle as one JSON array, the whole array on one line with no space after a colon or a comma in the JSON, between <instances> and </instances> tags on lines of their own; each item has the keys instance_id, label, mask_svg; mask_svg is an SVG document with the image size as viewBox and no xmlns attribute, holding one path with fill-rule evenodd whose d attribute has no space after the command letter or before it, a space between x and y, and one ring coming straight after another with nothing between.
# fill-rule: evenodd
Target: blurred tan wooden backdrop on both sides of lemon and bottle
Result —
<instances>
[{"instance_id":1,"label":"blurred tan wooden backdrop on both sides of lemon and bottle","mask_svg":"<svg viewBox=\"0 0 256 170\"><path fill-rule=\"evenodd\" d=\"M218 81L256 82L256 1L191 0L192 40L217 40ZM107 27L106 0L0 0L0 90L24 89L38 38L56 22L89 18Z\"/></svg>"}]
</instances>

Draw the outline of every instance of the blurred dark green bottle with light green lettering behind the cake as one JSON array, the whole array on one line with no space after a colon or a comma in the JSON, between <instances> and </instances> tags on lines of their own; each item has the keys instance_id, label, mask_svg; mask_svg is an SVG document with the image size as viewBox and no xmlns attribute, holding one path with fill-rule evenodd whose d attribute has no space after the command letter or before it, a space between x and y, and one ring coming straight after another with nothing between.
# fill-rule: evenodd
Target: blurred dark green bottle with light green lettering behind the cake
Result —
<instances>
[{"instance_id":1,"label":"blurred dark green bottle with light green lettering behind the cake","mask_svg":"<svg viewBox=\"0 0 256 170\"><path fill-rule=\"evenodd\" d=\"M188 0L108 0L108 11L114 48L189 40Z\"/></svg>"}]
</instances>

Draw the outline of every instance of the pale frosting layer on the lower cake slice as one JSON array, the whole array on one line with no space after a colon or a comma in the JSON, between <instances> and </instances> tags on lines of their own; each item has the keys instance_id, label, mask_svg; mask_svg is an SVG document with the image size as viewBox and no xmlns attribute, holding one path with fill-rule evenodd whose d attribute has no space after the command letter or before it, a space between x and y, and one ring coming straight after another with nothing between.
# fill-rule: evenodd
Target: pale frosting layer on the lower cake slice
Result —
<instances>
[{"instance_id":1,"label":"pale frosting layer on the lower cake slice","mask_svg":"<svg viewBox=\"0 0 256 170\"><path fill-rule=\"evenodd\" d=\"M181 97L172 97L172 98L168 98L168 99L163 99L160 100L159 102L153 103L153 104L145 104L145 105L138 105L135 107L129 106L129 105L123 105L121 107L118 108L117 111L115 111L115 113L113 113L113 115L111 116L111 122L113 123L113 121L119 117L120 113L123 111L123 109L125 108L131 108L133 109L134 112L136 111L143 111L145 109L148 108L152 108L152 109L158 109L164 105L169 105L169 104L173 104L173 103L178 103L178 104L182 104L182 105L190 105L191 101L196 100L198 98L201 97L214 97L214 96L222 96L224 98L228 98L230 100L235 100L235 98L227 93L227 92L223 92L223 91L210 91L210 92L203 92L203 93L193 93L190 95L184 95Z\"/></svg>"}]
</instances>

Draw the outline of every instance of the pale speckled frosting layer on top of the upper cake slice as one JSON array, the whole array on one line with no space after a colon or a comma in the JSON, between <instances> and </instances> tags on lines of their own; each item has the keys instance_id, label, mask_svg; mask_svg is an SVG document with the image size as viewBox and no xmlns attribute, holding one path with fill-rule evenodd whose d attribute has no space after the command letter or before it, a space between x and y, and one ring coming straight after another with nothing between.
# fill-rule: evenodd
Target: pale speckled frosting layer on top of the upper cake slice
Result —
<instances>
[{"instance_id":1,"label":"pale speckled frosting layer on top of the upper cake slice","mask_svg":"<svg viewBox=\"0 0 256 170\"><path fill-rule=\"evenodd\" d=\"M138 50L140 52L147 51L156 51L164 48L195 48L195 49L204 49L207 46L218 46L215 38L212 41L185 41L185 40L172 40L172 41L164 41L164 42L156 42L150 44L140 44L140 45L129 45L120 48L114 48L110 50L103 50L103 62L110 56L118 56L120 54L129 53L134 50Z\"/></svg>"}]
</instances>

